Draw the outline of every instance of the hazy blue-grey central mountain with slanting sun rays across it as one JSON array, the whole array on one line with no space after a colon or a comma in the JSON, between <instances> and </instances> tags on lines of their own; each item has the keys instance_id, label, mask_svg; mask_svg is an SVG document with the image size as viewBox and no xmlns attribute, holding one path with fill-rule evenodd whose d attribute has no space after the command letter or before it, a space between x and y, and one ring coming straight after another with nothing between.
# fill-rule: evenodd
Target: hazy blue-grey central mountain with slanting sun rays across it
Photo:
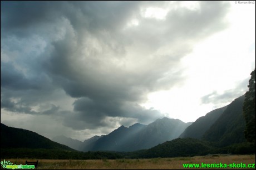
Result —
<instances>
[{"instance_id":1,"label":"hazy blue-grey central mountain with slanting sun rays across it","mask_svg":"<svg viewBox=\"0 0 256 170\"><path fill-rule=\"evenodd\" d=\"M91 143L91 148L83 151L135 151L150 148L173 140L191 125L178 119L157 119L149 125L135 123L129 128L120 126L109 135Z\"/></svg>"}]
</instances>

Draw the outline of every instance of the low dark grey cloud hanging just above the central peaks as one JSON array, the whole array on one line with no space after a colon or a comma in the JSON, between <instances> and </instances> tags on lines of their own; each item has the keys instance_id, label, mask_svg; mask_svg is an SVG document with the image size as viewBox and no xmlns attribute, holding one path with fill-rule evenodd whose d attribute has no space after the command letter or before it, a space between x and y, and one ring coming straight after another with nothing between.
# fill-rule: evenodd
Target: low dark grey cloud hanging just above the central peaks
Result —
<instances>
[{"instance_id":1,"label":"low dark grey cloud hanging just above the central peaks","mask_svg":"<svg viewBox=\"0 0 256 170\"><path fill-rule=\"evenodd\" d=\"M106 116L129 117L146 123L159 117L159 111L144 109L135 102L115 101L112 99L110 101L92 101L91 99L82 97L76 100L73 105L75 114L65 120L66 125L69 126L72 126L70 119L86 122L87 127L93 128L95 126L107 126L105 121L103 121Z\"/></svg>"}]
</instances>

